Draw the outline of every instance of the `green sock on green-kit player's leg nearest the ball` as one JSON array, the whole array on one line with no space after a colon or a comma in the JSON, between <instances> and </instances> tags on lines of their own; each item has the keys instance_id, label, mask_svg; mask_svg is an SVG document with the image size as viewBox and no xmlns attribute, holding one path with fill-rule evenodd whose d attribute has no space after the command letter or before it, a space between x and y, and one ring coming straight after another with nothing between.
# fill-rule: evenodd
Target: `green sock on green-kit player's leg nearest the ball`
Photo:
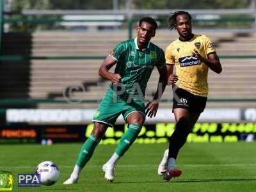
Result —
<instances>
[{"instance_id":1,"label":"green sock on green-kit player's leg nearest the ball","mask_svg":"<svg viewBox=\"0 0 256 192\"><path fill-rule=\"evenodd\" d=\"M84 142L81 151L77 157L76 164L80 168L83 168L85 164L90 160L94 152L95 147L99 144L101 138L97 138L93 134Z\"/></svg>"}]
</instances>

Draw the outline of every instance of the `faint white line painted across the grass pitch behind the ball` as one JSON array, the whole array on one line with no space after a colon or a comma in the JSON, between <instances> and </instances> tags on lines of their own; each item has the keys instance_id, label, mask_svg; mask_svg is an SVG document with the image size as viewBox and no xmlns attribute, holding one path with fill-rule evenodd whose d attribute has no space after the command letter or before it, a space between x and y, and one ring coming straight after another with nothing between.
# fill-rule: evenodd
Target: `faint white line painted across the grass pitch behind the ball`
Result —
<instances>
[{"instance_id":1,"label":"faint white line painted across the grass pitch behind the ball","mask_svg":"<svg viewBox=\"0 0 256 192\"><path fill-rule=\"evenodd\" d=\"M189 167L204 167L204 166L256 166L256 164L177 164L177 166L189 166ZM147 168L147 167L158 167L158 164L124 164L124 165L117 165L117 167L124 167L124 168ZM30 169L30 168L35 168L35 166L0 166L0 172L1 170L6 170L6 169ZM74 166L60 166L60 168L74 168ZM96 165L89 165L85 166L85 168L102 168L102 166L96 166Z\"/></svg>"}]
</instances>

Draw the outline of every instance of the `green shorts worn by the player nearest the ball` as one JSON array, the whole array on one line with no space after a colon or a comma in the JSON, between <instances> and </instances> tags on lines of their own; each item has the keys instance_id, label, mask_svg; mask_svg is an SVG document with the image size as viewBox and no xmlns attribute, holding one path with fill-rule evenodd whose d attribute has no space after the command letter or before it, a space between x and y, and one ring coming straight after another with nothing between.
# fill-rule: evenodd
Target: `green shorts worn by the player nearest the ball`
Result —
<instances>
[{"instance_id":1,"label":"green shorts worn by the player nearest the ball","mask_svg":"<svg viewBox=\"0 0 256 192\"><path fill-rule=\"evenodd\" d=\"M120 114L124 116L124 120L126 121L127 116L135 111L138 111L145 117L145 105L142 99L134 98L131 102L127 103L127 99L114 96L113 90L109 88L100 102L92 121L101 122L113 127Z\"/></svg>"}]
</instances>

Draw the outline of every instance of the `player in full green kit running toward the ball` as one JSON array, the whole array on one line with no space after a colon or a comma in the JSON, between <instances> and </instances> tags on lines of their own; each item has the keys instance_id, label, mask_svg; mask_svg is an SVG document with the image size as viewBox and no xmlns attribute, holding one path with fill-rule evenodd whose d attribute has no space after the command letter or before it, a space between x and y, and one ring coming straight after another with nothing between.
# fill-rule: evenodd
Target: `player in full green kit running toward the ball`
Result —
<instances>
[{"instance_id":1,"label":"player in full green kit running toward the ball","mask_svg":"<svg viewBox=\"0 0 256 192\"><path fill-rule=\"evenodd\" d=\"M109 79L108 92L100 102L93 116L94 127L90 137L84 142L70 178L63 184L74 184L85 164L92 157L95 147L108 129L113 127L120 114L128 125L113 156L102 166L105 179L114 180L116 161L122 157L136 140L145 122L145 116L156 116L158 101L167 83L164 52L150 42L157 29L156 20L143 17L137 28L137 37L116 45L99 68L99 75ZM109 69L116 64L115 73ZM144 105L145 89L154 67L159 71L159 86L153 101ZM147 108L147 109L145 109Z\"/></svg>"}]
</instances>

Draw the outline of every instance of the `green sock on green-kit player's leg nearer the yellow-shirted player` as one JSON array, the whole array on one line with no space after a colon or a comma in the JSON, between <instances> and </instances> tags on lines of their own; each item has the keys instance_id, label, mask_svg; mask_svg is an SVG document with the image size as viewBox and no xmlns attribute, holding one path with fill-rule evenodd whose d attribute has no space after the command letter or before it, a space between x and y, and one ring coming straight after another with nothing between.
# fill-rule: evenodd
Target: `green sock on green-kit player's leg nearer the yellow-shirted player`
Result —
<instances>
[{"instance_id":1,"label":"green sock on green-kit player's leg nearer the yellow-shirted player","mask_svg":"<svg viewBox=\"0 0 256 192\"><path fill-rule=\"evenodd\" d=\"M118 154L118 156L123 156L125 154L128 148L136 140L138 134L141 131L141 127L142 125L139 124L129 124L129 128L123 134L116 148L115 153Z\"/></svg>"}]
</instances>

